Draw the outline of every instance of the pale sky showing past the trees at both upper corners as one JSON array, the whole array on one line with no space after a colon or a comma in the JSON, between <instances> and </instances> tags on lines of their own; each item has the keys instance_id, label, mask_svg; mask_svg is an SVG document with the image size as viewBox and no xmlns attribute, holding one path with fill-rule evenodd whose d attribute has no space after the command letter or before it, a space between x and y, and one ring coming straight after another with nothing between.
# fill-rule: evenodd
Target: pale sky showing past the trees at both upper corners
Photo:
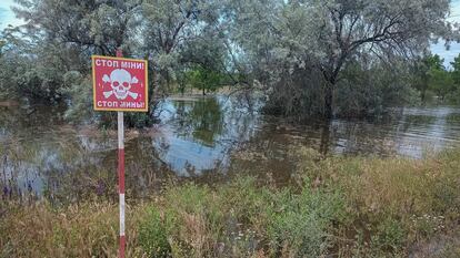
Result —
<instances>
[{"instance_id":1,"label":"pale sky showing past the trees at both upper corners","mask_svg":"<svg viewBox=\"0 0 460 258\"><path fill-rule=\"evenodd\" d=\"M16 19L14 13L11 11L11 6L13 4L14 0L0 0L0 30L8 24L20 25L22 23L21 20ZM460 0L452 0L449 21L460 23ZM444 42L440 41L431 45L431 52L444 59L444 65L450 68L450 62L460 53L460 43L452 43L450 50L446 50Z\"/></svg>"}]
</instances>

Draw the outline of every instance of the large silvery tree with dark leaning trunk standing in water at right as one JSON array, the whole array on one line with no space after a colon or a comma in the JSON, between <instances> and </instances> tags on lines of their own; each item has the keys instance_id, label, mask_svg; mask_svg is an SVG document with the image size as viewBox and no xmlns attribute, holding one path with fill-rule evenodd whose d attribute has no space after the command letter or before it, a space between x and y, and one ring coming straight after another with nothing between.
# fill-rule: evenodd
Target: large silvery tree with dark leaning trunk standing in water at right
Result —
<instances>
[{"instance_id":1,"label":"large silvery tree with dark leaning trunk standing in water at right","mask_svg":"<svg viewBox=\"0 0 460 258\"><path fill-rule=\"evenodd\" d=\"M277 64L299 73L321 73L323 82L317 83L317 90L323 91L321 113L328 118L350 61L417 56L430 41L451 37L448 12L448 0L252 0L231 1L229 11L234 38L248 56L260 60L254 61L254 70L266 69L259 76L264 82L282 78L269 72Z\"/></svg>"}]
</instances>

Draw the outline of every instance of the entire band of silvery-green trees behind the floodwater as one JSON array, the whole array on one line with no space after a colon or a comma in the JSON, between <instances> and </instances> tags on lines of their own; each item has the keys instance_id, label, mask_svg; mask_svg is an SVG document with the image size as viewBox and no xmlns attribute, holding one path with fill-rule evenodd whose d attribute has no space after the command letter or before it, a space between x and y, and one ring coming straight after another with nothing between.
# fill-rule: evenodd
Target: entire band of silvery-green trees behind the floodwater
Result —
<instances>
[{"instance_id":1,"label":"entire band of silvery-green trees behind the floodwater","mask_svg":"<svg viewBox=\"0 0 460 258\"><path fill-rule=\"evenodd\" d=\"M163 97L193 87L256 92L267 113L299 118L372 116L418 95L459 100L460 58L448 72L426 54L431 42L458 38L449 0L18 4L26 24L0 33L0 97L66 102L72 121L111 125L87 94L90 55L118 48L150 61L150 113L128 115L128 126L151 125Z\"/></svg>"}]
</instances>

